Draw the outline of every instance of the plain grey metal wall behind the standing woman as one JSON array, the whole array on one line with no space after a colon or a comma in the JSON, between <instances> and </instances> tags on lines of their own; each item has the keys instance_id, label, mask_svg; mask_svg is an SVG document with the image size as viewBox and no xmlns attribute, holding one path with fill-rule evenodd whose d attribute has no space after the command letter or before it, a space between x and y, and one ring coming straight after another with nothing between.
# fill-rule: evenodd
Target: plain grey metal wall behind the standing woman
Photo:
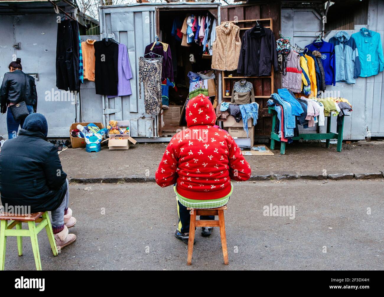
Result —
<instances>
[{"instance_id":1,"label":"plain grey metal wall behind the standing woman","mask_svg":"<svg viewBox=\"0 0 384 297\"><path fill-rule=\"evenodd\" d=\"M52 89L56 91L56 14L25 14L0 16L0 82L13 54L22 59L23 71L37 73L37 110L43 113L49 124L48 137L68 137L69 127L76 120L76 108L72 102L49 101ZM21 50L12 48L21 43ZM46 93L49 92L49 93ZM0 135L8 138L7 114L0 115Z\"/></svg>"}]
</instances>

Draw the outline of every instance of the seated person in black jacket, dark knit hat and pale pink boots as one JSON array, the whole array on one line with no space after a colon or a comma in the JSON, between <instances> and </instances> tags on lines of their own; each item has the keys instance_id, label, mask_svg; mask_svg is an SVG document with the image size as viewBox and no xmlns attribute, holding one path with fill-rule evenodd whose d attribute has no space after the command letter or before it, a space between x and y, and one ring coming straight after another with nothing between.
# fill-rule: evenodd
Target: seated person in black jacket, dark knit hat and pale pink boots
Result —
<instances>
[{"instance_id":1,"label":"seated person in black jacket, dark knit hat and pale pink boots","mask_svg":"<svg viewBox=\"0 0 384 297\"><path fill-rule=\"evenodd\" d=\"M76 219L68 208L69 186L57 148L46 141L48 124L41 113L25 118L17 138L5 141L0 152L0 193L5 212L51 211L56 246L76 240L68 234Z\"/></svg>"}]
</instances>

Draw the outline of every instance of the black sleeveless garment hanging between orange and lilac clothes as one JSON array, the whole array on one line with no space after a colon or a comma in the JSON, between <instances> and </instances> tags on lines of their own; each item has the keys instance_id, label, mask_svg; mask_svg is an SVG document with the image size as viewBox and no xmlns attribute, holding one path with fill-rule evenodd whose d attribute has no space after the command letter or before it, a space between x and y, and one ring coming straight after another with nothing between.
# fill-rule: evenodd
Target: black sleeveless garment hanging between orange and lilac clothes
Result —
<instances>
[{"instance_id":1,"label":"black sleeveless garment hanging between orange and lilac clothes","mask_svg":"<svg viewBox=\"0 0 384 297\"><path fill-rule=\"evenodd\" d=\"M119 44L104 38L94 43L96 94L118 94Z\"/></svg>"}]
</instances>

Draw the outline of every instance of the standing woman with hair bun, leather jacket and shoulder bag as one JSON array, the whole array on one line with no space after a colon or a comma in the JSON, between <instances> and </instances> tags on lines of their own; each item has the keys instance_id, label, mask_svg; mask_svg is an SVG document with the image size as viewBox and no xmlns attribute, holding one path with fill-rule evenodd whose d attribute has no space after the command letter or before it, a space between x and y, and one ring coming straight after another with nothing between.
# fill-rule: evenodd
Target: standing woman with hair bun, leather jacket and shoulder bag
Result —
<instances>
[{"instance_id":1,"label":"standing woman with hair bun, leather jacket and shoulder bag","mask_svg":"<svg viewBox=\"0 0 384 297\"><path fill-rule=\"evenodd\" d=\"M8 66L0 88L1 113L7 113L8 139L15 138L19 126L23 128L27 115L36 112L37 93L35 79L22 71L21 59Z\"/></svg>"}]
</instances>

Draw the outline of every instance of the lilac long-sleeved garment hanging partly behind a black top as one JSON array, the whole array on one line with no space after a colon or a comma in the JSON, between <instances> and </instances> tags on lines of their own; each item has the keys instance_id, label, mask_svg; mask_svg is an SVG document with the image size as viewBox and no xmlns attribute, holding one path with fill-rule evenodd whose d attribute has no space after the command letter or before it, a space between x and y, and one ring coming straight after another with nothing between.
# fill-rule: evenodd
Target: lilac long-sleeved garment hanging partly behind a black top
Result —
<instances>
[{"instance_id":1,"label":"lilac long-sleeved garment hanging partly behind a black top","mask_svg":"<svg viewBox=\"0 0 384 297\"><path fill-rule=\"evenodd\" d=\"M118 57L118 94L108 95L108 98L118 96L128 96L132 94L131 82L132 78L131 65L129 64L128 51L125 44L119 44L119 57Z\"/></svg>"}]
</instances>

